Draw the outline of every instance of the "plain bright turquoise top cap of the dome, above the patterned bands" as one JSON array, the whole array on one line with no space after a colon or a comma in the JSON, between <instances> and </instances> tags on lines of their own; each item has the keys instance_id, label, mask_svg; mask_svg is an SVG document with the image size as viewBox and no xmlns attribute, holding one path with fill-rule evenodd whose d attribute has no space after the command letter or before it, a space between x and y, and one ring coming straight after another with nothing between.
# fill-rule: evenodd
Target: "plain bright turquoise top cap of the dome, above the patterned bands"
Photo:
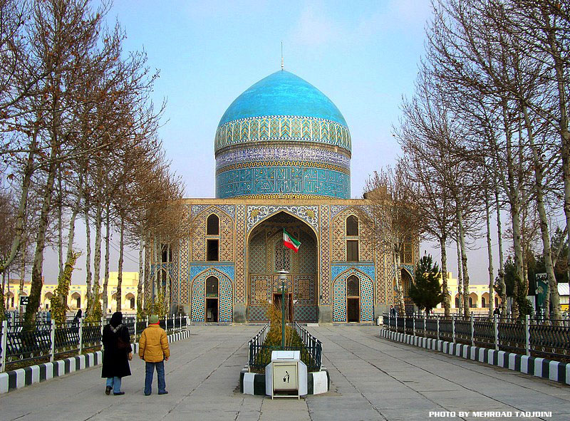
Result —
<instances>
[{"instance_id":1,"label":"plain bright turquoise top cap of the dome, above the patterned bands","mask_svg":"<svg viewBox=\"0 0 570 421\"><path fill-rule=\"evenodd\" d=\"M248 88L222 115L219 126L240 118L296 115L346 125L341 112L320 90L288 71L277 71Z\"/></svg>"}]
</instances>

